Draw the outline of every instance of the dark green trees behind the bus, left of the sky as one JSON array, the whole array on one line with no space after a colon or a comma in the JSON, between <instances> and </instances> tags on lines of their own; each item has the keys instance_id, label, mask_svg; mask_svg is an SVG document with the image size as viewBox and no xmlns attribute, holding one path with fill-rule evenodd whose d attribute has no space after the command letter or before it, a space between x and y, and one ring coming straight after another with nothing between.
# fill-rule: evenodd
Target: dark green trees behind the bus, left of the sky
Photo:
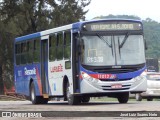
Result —
<instances>
[{"instance_id":1,"label":"dark green trees behind the bus, left of the sky","mask_svg":"<svg viewBox=\"0 0 160 120\"><path fill-rule=\"evenodd\" d=\"M22 36L80 19L91 0L3 0L0 2L0 83L13 83L13 36ZM10 43L10 44L8 44ZM2 77L3 76L3 77ZM12 81L10 81L12 79ZM2 85L2 84L1 84Z\"/></svg>"}]
</instances>

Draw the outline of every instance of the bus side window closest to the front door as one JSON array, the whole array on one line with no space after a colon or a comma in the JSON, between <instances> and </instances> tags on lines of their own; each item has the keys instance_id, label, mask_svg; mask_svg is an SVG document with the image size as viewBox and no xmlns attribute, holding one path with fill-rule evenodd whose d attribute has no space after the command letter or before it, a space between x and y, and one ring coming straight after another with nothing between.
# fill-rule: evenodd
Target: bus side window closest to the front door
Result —
<instances>
[{"instance_id":1,"label":"bus side window closest to the front door","mask_svg":"<svg viewBox=\"0 0 160 120\"><path fill-rule=\"evenodd\" d=\"M64 59L71 58L71 32L64 33Z\"/></svg>"}]
</instances>

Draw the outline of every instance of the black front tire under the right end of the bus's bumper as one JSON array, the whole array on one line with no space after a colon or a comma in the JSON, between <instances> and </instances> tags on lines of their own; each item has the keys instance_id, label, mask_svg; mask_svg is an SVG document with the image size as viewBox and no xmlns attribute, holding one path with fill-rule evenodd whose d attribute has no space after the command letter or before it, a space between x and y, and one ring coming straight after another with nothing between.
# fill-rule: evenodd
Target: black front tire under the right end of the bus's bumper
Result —
<instances>
[{"instance_id":1,"label":"black front tire under the right end of the bus's bumper","mask_svg":"<svg viewBox=\"0 0 160 120\"><path fill-rule=\"evenodd\" d=\"M118 94L119 103L127 103L129 99L129 92L123 92Z\"/></svg>"}]
</instances>

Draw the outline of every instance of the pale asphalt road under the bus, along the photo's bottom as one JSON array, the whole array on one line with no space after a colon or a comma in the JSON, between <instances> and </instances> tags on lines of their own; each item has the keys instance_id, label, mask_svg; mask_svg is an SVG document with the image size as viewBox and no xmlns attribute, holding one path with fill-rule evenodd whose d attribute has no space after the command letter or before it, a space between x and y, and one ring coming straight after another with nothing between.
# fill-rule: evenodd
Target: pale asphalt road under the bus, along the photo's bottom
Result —
<instances>
[{"instance_id":1,"label":"pale asphalt road under the bus, along the photo's bottom","mask_svg":"<svg viewBox=\"0 0 160 120\"><path fill-rule=\"evenodd\" d=\"M70 106L63 101L50 101L45 105L32 105L30 101L0 101L0 119L160 119L160 101L89 102ZM7 112L8 113L7 113ZM3 113L3 114L2 114ZM42 118L41 118L42 117Z\"/></svg>"}]
</instances>

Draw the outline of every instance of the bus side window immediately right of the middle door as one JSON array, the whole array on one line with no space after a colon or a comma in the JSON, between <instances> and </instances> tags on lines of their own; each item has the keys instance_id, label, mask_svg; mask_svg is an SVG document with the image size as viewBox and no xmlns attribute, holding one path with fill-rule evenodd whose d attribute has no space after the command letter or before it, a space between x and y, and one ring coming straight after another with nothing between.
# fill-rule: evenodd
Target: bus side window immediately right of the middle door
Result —
<instances>
[{"instance_id":1,"label":"bus side window immediately right of the middle door","mask_svg":"<svg viewBox=\"0 0 160 120\"><path fill-rule=\"evenodd\" d=\"M56 35L53 34L49 37L49 60L55 61L56 60Z\"/></svg>"}]
</instances>

